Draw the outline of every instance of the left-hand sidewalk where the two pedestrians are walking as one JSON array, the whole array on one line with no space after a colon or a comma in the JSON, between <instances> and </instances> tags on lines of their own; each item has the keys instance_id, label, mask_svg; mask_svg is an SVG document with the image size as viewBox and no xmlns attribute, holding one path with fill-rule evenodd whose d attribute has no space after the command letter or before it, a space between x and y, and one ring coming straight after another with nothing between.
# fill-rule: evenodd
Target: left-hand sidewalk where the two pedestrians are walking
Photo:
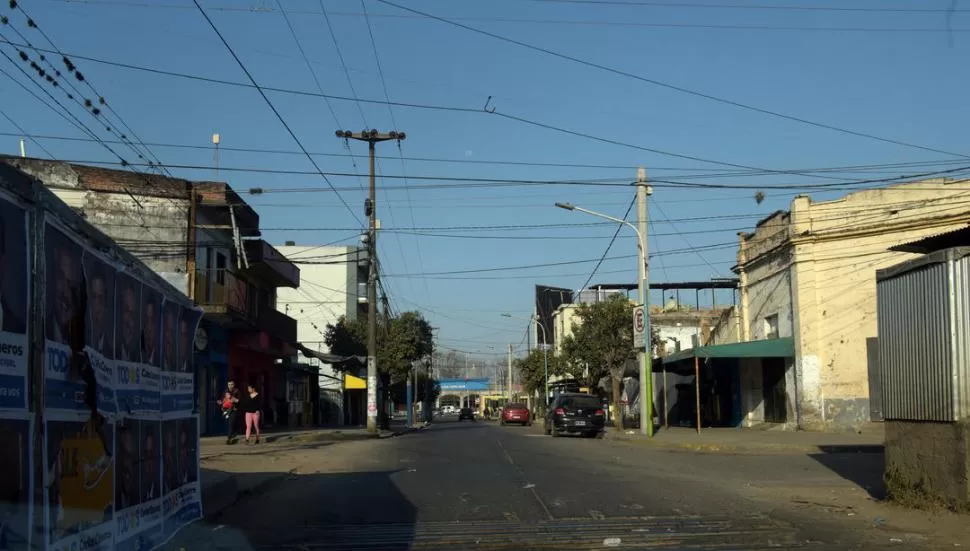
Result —
<instances>
[{"instance_id":1,"label":"left-hand sidewalk where the two pedestrians are walking","mask_svg":"<svg viewBox=\"0 0 970 551\"><path fill-rule=\"evenodd\" d=\"M377 433L358 427L277 431L264 433L258 445L247 445L244 438L229 445L225 436L203 437L199 450L203 515L217 515L239 498L259 493L293 474L303 460L294 452L338 442L392 438L417 430L392 422L390 430Z\"/></svg>"}]
</instances>

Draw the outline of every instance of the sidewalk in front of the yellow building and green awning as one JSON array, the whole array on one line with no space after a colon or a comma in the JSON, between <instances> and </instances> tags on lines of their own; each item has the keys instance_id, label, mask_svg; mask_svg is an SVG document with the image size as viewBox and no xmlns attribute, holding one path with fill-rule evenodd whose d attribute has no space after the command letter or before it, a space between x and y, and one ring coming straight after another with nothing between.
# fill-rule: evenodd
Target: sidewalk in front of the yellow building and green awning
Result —
<instances>
[{"instance_id":1,"label":"sidewalk in front of the yellow building and green awning","mask_svg":"<svg viewBox=\"0 0 970 551\"><path fill-rule=\"evenodd\" d=\"M652 439L639 429L609 431L607 438L635 444L708 453L882 453L884 427L872 423L859 432L828 433L760 428L656 429Z\"/></svg>"}]
</instances>

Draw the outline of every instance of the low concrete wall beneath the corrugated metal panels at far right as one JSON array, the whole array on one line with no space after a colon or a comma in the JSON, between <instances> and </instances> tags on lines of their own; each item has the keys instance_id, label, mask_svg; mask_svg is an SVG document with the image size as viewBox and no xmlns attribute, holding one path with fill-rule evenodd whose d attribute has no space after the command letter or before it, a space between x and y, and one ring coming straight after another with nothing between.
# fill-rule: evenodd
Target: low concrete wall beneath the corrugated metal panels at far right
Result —
<instances>
[{"instance_id":1,"label":"low concrete wall beneath the corrugated metal panels at far right","mask_svg":"<svg viewBox=\"0 0 970 551\"><path fill-rule=\"evenodd\" d=\"M904 505L970 507L970 422L886 421L885 480Z\"/></svg>"}]
</instances>

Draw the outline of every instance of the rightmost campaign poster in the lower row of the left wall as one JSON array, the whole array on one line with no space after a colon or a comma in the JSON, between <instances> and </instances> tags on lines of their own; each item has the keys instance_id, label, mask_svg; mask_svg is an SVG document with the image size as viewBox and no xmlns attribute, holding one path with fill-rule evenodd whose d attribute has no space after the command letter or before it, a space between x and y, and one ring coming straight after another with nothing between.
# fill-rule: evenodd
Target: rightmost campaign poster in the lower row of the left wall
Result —
<instances>
[{"instance_id":1,"label":"rightmost campaign poster in the lower row of the left wall","mask_svg":"<svg viewBox=\"0 0 970 551\"><path fill-rule=\"evenodd\" d=\"M198 416L163 421L162 440L163 531L169 538L186 524L202 518Z\"/></svg>"}]
</instances>

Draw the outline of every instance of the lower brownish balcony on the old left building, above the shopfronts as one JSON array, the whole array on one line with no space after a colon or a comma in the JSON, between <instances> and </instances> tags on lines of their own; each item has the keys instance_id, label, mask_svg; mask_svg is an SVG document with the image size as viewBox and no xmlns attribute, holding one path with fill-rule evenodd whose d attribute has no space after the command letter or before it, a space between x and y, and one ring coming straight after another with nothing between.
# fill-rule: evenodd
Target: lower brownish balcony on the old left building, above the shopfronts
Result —
<instances>
[{"instance_id":1,"label":"lower brownish balcony on the old left building, above the shopfronts","mask_svg":"<svg viewBox=\"0 0 970 551\"><path fill-rule=\"evenodd\" d=\"M205 314L232 329L264 332L284 342L296 342L296 320L262 305L257 287L229 270L198 270L195 302Z\"/></svg>"}]
</instances>

